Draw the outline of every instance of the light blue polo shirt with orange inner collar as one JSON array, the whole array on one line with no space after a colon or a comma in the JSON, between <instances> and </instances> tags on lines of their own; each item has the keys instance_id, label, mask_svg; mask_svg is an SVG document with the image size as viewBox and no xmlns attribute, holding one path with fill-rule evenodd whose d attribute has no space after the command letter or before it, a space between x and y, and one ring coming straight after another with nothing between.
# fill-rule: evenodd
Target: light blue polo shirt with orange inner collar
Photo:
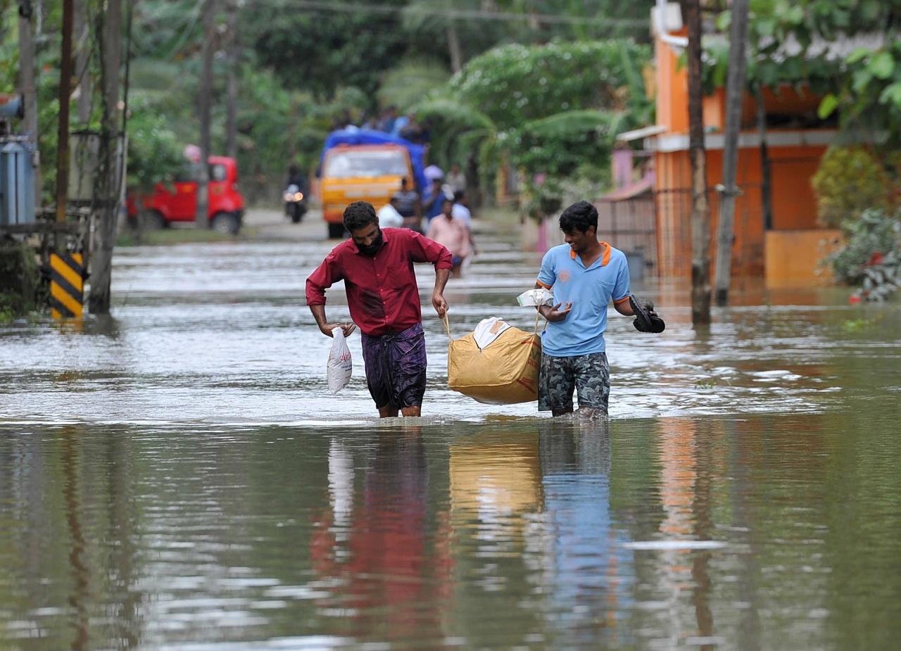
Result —
<instances>
[{"instance_id":1,"label":"light blue polo shirt with orange inner collar","mask_svg":"<svg viewBox=\"0 0 901 651\"><path fill-rule=\"evenodd\" d=\"M554 304L572 303L566 319L548 322L542 351L551 357L605 352L607 305L629 300L629 266L625 254L601 242L601 255L585 268L569 244L544 254L538 283L554 293Z\"/></svg>"}]
</instances>

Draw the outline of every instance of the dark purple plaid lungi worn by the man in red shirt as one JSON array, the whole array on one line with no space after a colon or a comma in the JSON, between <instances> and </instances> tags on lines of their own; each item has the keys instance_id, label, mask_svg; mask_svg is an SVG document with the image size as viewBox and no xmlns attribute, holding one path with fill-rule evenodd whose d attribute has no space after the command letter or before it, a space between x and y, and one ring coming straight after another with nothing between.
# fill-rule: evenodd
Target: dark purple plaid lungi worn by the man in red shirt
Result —
<instances>
[{"instance_id":1,"label":"dark purple plaid lungi worn by the man in red shirt","mask_svg":"<svg viewBox=\"0 0 901 651\"><path fill-rule=\"evenodd\" d=\"M425 394L425 335L416 323L402 332L381 337L361 334L369 394L381 409L418 407Z\"/></svg>"}]
</instances>

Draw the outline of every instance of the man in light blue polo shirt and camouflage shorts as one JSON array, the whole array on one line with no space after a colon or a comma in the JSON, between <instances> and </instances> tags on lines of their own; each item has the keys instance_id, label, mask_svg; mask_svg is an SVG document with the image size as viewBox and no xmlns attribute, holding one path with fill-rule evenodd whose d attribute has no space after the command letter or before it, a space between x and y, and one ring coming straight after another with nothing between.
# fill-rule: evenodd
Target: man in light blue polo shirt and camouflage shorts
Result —
<instances>
[{"instance_id":1,"label":"man in light blue polo shirt and camouflage shorts","mask_svg":"<svg viewBox=\"0 0 901 651\"><path fill-rule=\"evenodd\" d=\"M607 412L610 366L605 353L607 305L633 315L629 303L629 267L623 251L597 241L597 209L573 203L560 215L566 244L544 254L535 287L554 294L555 305L542 305L548 320L542 333L538 409L554 416L572 412L578 389L579 409Z\"/></svg>"}]
</instances>

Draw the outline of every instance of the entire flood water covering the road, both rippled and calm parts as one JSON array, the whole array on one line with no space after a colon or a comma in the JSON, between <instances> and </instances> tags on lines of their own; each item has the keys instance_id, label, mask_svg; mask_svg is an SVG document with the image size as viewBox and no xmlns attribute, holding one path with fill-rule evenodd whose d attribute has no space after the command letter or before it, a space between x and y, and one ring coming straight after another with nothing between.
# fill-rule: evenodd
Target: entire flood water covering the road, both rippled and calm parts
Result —
<instances>
[{"instance_id":1,"label":"entire flood water covering the road, both rippled and calm parts","mask_svg":"<svg viewBox=\"0 0 901 651\"><path fill-rule=\"evenodd\" d=\"M533 327L513 242L454 336ZM359 335L327 391L329 248L117 249L112 319L0 327L0 649L897 647L897 304L749 286L696 332L633 283L668 325L611 313L609 421L451 392L423 307L424 416L378 421Z\"/></svg>"}]
</instances>

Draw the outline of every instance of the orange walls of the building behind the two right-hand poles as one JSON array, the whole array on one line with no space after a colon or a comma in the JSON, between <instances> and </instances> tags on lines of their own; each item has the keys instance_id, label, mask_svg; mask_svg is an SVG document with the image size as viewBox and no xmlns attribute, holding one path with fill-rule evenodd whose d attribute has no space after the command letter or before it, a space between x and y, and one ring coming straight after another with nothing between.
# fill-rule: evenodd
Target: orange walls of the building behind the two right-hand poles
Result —
<instances>
[{"instance_id":1,"label":"orange walls of the building behind the two right-hand poles","mask_svg":"<svg viewBox=\"0 0 901 651\"><path fill-rule=\"evenodd\" d=\"M684 32L682 32L684 34ZM667 135L688 131L687 68L679 67L678 55L661 41L655 43L655 86L657 120L667 127ZM703 100L705 131L722 134L725 125L725 89L718 88ZM801 88L780 86L764 89L763 104L768 114L815 112L819 97ZM755 132L757 104L745 95L742 129ZM769 131L777 136L778 131ZM769 147L773 231L816 229L816 199L810 179L816 171L824 146ZM655 196L657 201L658 271L662 277L691 276L691 168L688 152L655 154ZM707 150L707 187L710 203L710 254L716 257L716 224L719 195L712 189L723 182L723 150ZM760 148L739 151L736 182L743 194L735 201L733 276L763 276L764 257L762 169ZM713 269L711 269L713 273Z\"/></svg>"}]
</instances>

